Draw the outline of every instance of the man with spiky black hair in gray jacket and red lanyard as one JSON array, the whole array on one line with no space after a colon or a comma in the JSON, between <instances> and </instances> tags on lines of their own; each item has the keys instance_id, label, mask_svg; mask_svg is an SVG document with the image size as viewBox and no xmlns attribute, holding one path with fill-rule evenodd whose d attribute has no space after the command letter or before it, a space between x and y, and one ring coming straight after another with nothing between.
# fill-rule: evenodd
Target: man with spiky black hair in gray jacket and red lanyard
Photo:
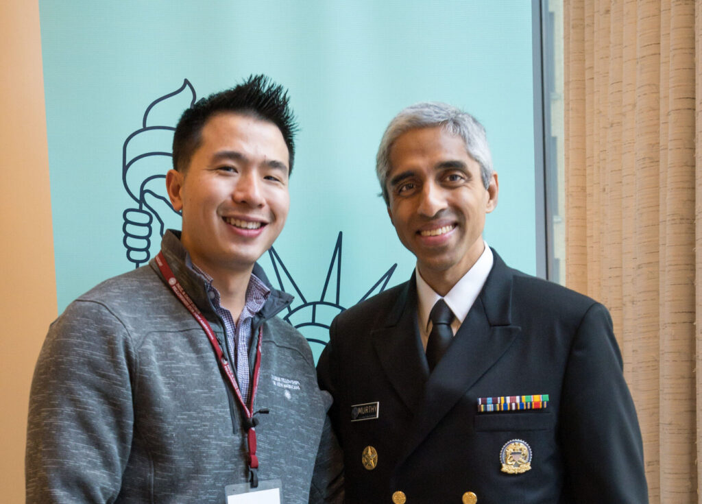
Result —
<instances>
[{"instance_id":1,"label":"man with spiky black hair in gray jacket and red lanyard","mask_svg":"<svg viewBox=\"0 0 702 504\"><path fill-rule=\"evenodd\" d=\"M183 113L166 175L182 232L48 331L28 503L343 500L331 397L276 316L291 296L256 264L288 214L295 131L286 91L263 75Z\"/></svg>"}]
</instances>

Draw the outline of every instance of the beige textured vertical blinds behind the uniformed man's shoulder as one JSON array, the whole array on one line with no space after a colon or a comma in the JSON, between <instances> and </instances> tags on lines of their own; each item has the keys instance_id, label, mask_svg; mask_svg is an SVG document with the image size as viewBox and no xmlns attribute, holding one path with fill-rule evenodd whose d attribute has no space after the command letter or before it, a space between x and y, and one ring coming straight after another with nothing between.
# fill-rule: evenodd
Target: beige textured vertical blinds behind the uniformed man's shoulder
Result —
<instances>
[{"instance_id":1,"label":"beige textured vertical blinds behind the uniformed man's shoulder","mask_svg":"<svg viewBox=\"0 0 702 504\"><path fill-rule=\"evenodd\" d=\"M567 285L611 311L652 504L702 503L701 4L564 1Z\"/></svg>"}]
</instances>

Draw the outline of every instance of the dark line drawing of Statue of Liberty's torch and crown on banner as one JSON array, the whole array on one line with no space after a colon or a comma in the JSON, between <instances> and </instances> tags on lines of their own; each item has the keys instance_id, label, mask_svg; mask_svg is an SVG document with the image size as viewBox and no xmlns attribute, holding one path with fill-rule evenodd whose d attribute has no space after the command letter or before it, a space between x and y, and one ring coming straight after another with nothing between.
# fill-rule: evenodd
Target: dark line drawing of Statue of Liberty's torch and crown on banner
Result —
<instances>
[{"instance_id":1,"label":"dark line drawing of Statue of Liberty's torch and crown on banner","mask_svg":"<svg viewBox=\"0 0 702 504\"><path fill-rule=\"evenodd\" d=\"M146 108L141 127L128 135L122 146L122 183L136 206L126 208L122 213L124 224L122 243L126 248L126 258L139 267L147 263L160 238L168 227L180 229L181 216L171 206L166 193L166 172L172 165L173 125L180 114L194 104L195 90L187 79L176 91L157 98ZM158 237L152 234L158 232ZM340 304L341 297L341 239L339 232L331 255L322 294L318 300L308 301L300 291L288 268L275 248L268 251L279 289L296 296L293 304L283 315L310 342L312 351L319 355L329 339L331 321L346 307ZM380 293L388 286L397 263L392 265L366 292L359 303L373 294Z\"/></svg>"}]
</instances>

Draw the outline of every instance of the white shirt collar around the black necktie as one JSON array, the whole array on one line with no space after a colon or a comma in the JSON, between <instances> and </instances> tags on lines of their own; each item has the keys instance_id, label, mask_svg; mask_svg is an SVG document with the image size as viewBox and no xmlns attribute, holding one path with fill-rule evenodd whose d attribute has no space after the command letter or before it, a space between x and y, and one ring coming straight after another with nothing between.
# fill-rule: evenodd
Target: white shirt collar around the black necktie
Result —
<instances>
[{"instance_id":1,"label":"white shirt collar around the black necktie","mask_svg":"<svg viewBox=\"0 0 702 504\"><path fill-rule=\"evenodd\" d=\"M444 301L446 301L446 305L449 305L449 308L456 316L459 326L463 323L465 317L468 316L470 307L472 307L480 291L482 291L493 263L494 256L487 242L485 242L485 250L478 260L475 261L475 264L444 296ZM419 326L422 328L423 333L429 333L429 313L432 311L435 303L441 299L441 296L424 281L416 267L415 269Z\"/></svg>"}]
</instances>

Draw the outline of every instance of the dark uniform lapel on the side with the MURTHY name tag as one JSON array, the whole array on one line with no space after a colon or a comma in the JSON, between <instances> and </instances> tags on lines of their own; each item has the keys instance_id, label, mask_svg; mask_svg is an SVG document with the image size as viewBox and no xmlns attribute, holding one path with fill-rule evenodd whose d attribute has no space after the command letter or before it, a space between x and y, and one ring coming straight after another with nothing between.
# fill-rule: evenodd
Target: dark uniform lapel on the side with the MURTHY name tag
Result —
<instances>
[{"instance_id":1,"label":"dark uniform lapel on the side with the MURTHY name tag","mask_svg":"<svg viewBox=\"0 0 702 504\"><path fill-rule=\"evenodd\" d=\"M414 274L400 292L384 324L372 333L380 366L386 378L415 411L429 376L417 326L417 290Z\"/></svg>"}]
</instances>

